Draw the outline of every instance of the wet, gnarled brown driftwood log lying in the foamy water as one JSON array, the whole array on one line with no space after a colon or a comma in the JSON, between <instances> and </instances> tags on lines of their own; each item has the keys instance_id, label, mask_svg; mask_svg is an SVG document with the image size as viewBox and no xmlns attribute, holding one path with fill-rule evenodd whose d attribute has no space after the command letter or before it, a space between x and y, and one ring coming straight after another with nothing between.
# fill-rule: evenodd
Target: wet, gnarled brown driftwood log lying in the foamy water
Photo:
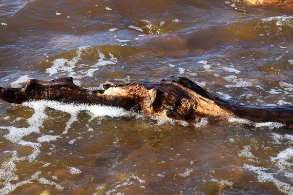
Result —
<instances>
[{"instance_id":1,"label":"wet, gnarled brown driftwood log lying in the foamy water","mask_svg":"<svg viewBox=\"0 0 293 195\"><path fill-rule=\"evenodd\" d=\"M183 120L234 115L255 122L293 124L293 106L260 107L229 103L183 77L170 77L160 82L106 81L101 90L79 87L73 83L71 77L47 82L29 79L20 88L0 87L0 98L11 103L47 99L67 103L103 104L154 117Z\"/></svg>"}]
</instances>

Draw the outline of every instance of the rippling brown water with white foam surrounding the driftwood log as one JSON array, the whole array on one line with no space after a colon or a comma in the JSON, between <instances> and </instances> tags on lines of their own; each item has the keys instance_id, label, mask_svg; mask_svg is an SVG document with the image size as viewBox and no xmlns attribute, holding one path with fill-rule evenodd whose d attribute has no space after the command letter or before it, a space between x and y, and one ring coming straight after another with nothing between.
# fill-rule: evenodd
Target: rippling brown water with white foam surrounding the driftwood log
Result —
<instances>
[{"instance_id":1,"label":"rippling brown water with white foam surrounding the driftwood log","mask_svg":"<svg viewBox=\"0 0 293 195\"><path fill-rule=\"evenodd\" d=\"M0 86L72 76L100 88L107 79L182 76L235 103L293 103L292 7L224 0L0 6ZM49 101L0 101L0 114L0 194L293 194L289 127L174 122Z\"/></svg>"}]
</instances>

